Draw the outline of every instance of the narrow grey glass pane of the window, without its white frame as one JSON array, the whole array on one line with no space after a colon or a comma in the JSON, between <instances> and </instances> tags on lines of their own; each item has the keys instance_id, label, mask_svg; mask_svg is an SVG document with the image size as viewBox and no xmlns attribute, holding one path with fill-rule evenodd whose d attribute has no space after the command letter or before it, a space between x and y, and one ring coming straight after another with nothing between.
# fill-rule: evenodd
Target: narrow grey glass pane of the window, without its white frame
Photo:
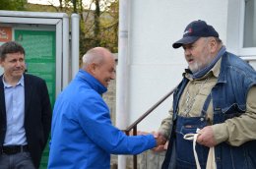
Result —
<instances>
[{"instance_id":1,"label":"narrow grey glass pane of the window, without its white frame","mask_svg":"<svg viewBox=\"0 0 256 169\"><path fill-rule=\"evenodd\" d=\"M245 0L243 47L256 47L256 0Z\"/></svg>"}]
</instances>

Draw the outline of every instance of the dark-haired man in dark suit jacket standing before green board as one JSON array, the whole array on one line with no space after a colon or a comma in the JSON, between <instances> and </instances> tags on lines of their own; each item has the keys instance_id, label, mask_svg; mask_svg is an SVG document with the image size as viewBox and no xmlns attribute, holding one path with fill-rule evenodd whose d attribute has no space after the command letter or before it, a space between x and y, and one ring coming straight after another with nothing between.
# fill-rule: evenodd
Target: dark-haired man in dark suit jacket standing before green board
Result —
<instances>
[{"instance_id":1,"label":"dark-haired man in dark suit jacket standing before green board","mask_svg":"<svg viewBox=\"0 0 256 169\"><path fill-rule=\"evenodd\" d=\"M51 124L47 86L25 74L25 50L15 41L0 46L0 64L0 168L38 168Z\"/></svg>"}]
</instances>

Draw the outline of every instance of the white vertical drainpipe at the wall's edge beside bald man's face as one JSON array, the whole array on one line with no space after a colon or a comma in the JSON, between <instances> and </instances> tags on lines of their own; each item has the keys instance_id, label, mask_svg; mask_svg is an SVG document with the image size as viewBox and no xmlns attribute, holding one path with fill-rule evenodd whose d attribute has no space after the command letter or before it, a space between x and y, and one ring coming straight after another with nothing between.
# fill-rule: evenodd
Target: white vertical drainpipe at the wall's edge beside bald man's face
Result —
<instances>
[{"instance_id":1,"label":"white vertical drainpipe at the wall's edge beside bald man's face","mask_svg":"<svg viewBox=\"0 0 256 169\"><path fill-rule=\"evenodd\" d=\"M128 126L128 17L129 0L119 0L118 64L116 74L116 127L124 130ZM126 156L118 155L118 169L126 169Z\"/></svg>"}]
</instances>

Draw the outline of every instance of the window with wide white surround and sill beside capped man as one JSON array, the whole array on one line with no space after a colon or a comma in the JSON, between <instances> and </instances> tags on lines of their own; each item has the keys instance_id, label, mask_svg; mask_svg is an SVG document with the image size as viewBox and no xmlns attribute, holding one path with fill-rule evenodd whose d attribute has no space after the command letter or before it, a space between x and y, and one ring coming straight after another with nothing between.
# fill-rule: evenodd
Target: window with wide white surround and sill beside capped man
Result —
<instances>
[{"instance_id":1,"label":"window with wide white surround and sill beside capped man","mask_svg":"<svg viewBox=\"0 0 256 169\"><path fill-rule=\"evenodd\" d=\"M226 48L256 69L256 0L228 0Z\"/></svg>"}]
</instances>

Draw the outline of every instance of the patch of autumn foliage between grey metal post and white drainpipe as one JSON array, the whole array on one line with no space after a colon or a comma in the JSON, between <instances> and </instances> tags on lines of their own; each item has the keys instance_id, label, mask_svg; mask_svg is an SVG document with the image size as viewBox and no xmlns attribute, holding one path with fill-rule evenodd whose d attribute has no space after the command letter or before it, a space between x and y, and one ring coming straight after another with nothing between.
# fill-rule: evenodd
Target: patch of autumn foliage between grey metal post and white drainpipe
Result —
<instances>
[{"instance_id":1,"label":"patch of autumn foliage between grey metal post and white drainpipe","mask_svg":"<svg viewBox=\"0 0 256 169\"><path fill-rule=\"evenodd\" d=\"M81 0L78 0L76 5L76 10L81 16L81 54L96 46L117 52L118 0L92 0L88 10L83 8L85 6Z\"/></svg>"}]
</instances>

